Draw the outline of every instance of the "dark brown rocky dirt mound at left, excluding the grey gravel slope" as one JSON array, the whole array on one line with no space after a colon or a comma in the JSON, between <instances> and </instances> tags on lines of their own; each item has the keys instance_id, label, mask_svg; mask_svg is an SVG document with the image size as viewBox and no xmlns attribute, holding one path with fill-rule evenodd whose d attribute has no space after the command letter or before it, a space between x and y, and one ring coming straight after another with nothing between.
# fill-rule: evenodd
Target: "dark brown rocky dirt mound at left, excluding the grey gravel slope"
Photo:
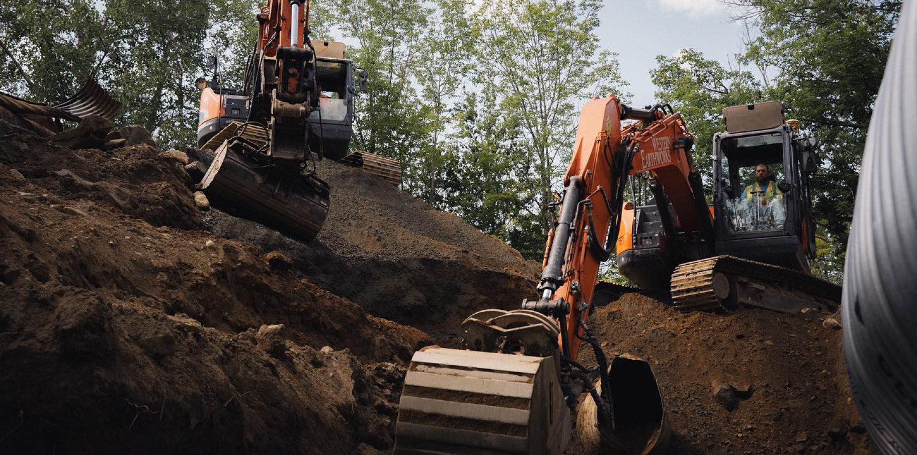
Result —
<instances>
[{"instance_id":1,"label":"dark brown rocky dirt mound at left, excluding the grey gravel slope","mask_svg":"<svg viewBox=\"0 0 917 455\"><path fill-rule=\"evenodd\" d=\"M0 125L0 434L16 452L378 453L426 335L210 236L150 146ZM322 348L327 346L326 348Z\"/></svg>"}]
</instances>

